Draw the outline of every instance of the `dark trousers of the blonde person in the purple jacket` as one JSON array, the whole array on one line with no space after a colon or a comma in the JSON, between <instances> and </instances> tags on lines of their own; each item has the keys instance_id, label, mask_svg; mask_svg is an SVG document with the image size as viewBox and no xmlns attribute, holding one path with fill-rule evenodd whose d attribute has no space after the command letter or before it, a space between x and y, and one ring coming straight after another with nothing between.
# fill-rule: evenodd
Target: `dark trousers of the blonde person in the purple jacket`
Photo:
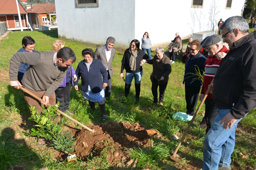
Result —
<instances>
[{"instance_id":1,"label":"dark trousers of the blonde person in the purple jacket","mask_svg":"<svg viewBox=\"0 0 256 170\"><path fill-rule=\"evenodd\" d=\"M70 82L66 83L65 87L59 87L55 90L55 95L56 95L56 102L60 102L60 107L59 109L62 112L65 112L69 108L69 103L70 103Z\"/></svg>"}]
</instances>

